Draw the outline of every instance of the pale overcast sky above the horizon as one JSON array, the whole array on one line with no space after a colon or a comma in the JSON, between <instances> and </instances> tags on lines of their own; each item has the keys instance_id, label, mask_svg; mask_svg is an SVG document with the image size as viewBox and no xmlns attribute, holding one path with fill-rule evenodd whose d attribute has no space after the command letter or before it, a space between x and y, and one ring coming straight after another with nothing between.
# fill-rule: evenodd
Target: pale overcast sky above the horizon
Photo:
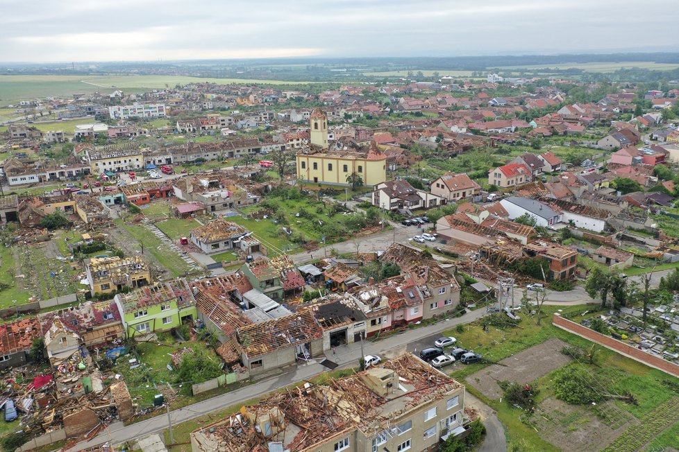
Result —
<instances>
[{"instance_id":1,"label":"pale overcast sky above the horizon","mask_svg":"<svg viewBox=\"0 0 679 452\"><path fill-rule=\"evenodd\" d=\"M0 61L679 51L676 0L0 0Z\"/></svg>"}]
</instances>

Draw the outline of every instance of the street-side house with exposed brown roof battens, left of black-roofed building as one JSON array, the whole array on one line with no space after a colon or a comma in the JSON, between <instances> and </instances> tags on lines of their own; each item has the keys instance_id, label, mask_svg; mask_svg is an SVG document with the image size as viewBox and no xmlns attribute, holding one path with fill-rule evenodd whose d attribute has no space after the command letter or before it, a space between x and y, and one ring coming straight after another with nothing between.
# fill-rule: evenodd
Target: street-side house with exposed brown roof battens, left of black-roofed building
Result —
<instances>
[{"instance_id":1,"label":"street-side house with exposed brown roof battens, left of black-roofed building","mask_svg":"<svg viewBox=\"0 0 679 452\"><path fill-rule=\"evenodd\" d=\"M323 332L310 309L241 327L237 339L251 376L323 355Z\"/></svg>"}]
</instances>

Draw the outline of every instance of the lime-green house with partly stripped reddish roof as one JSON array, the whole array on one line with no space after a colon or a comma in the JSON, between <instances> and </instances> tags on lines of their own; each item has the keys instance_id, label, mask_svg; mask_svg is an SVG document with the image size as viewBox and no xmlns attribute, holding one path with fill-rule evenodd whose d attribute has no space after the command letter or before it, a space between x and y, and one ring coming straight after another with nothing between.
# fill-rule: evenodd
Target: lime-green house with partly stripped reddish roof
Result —
<instances>
[{"instance_id":1,"label":"lime-green house with partly stripped reddish roof","mask_svg":"<svg viewBox=\"0 0 679 452\"><path fill-rule=\"evenodd\" d=\"M128 338L168 331L196 319L196 299L183 278L119 293L115 304Z\"/></svg>"}]
</instances>

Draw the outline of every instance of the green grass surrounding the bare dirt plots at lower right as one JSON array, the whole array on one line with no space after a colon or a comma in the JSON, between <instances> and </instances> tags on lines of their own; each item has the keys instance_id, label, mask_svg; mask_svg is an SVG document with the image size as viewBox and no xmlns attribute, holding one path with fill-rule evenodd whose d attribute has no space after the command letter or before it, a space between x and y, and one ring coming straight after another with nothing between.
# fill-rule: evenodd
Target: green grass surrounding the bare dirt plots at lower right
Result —
<instances>
[{"instance_id":1,"label":"green grass surrounding the bare dirt plots at lower right","mask_svg":"<svg viewBox=\"0 0 679 452\"><path fill-rule=\"evenodd\" d=\"M596 309L596 308L594 308ZM471 324L464 325L461 330L451 329L442 333L444 336L455 336L458 343L462 347L473 349L490 363L496 363L504 358L514 356L534 345L541 344L548 339L558 338L568 342L571 345L589 349L592 342L567 333L551 324L551 316L553 313L561 311L562 315L570 318L575 322L582 320L580 313L590 311L587 316L593 315L593 306L545 306L544 312L548 315L542 320L542 326L538 327L535 319L528 313L520 313L523 321L520 323L520 328L498 329L490 326L489 331L483 331L483 320L478 320ZM655 409L658 404L667 401L673 395L673 392L662 385L661 381L670 380L677 381L672 377L660 372L658 370L646 367L637 361L630 358L625 358L614 351L610 351L603 347L597 347L596 352L596 366L593 369L612 370L610 372L614 381L614 388L616 392L622 393L630 390L639 401L639 405L630 405L622 401L617 401L616 406L623 412L628 412L635 417L643 417L651 410ZM517 447L516 450L521 451L555 451L558 450L552 444L546 442L548 438L541 437L538 431L535 431L533 423L527 421L524 423L521 419L526 418L526 413L519 411L508 405L505 401L501 402L496 399L489 399L474 388L474 381L469 380L469 376L478 372L489 365L488 363L480 363L473 365L455 365L452 375L458 381L467 385L467 390L476 395L494 410L498 412L498 417L506 428L508 444ZM534 385L540 390L537 399L538 405L548 397L553 395L550 381L553 374L548 374L538 379ZM613 378L614 377L614 378ZM676 435L679 428L673 426L666 431L662 438L662 444L672 444L669 442L672 435ZM508 450L512 450L512 447Z\"/></svg>"}]
</instances>

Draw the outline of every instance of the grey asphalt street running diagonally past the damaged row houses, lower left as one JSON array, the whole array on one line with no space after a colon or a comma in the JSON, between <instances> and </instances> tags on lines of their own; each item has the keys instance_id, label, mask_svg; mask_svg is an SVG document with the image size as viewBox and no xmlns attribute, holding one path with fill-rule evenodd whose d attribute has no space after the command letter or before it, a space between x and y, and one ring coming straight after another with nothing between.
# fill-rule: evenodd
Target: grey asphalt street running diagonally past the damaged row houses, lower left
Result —
<instances>
[{"instance_id":1,"label":"grey asphalt street running diagonally past the damaged row houses, lower left","mask_svg":"<svg viewBox=\"0 0 679 452\"><path fill-rule=\"evenodd\" d=\"M462 315L460 318L444 320L437 324L429 325L428 327L421 327L416 329L408 329L400 334L389 336L385 340L378 340L377 342L365 341L363 343L366 354L378 354L383 358L392 358L405 353L406 347L410 342L415 342L441 333L447 329L451 329L458 324L469 323L477 320L485 315L485 308L479 308L476 311L470 311ZM339 364L340 367L357 367L358 359L361 356L361 344L355 342L353 344L336 347L335 353L333 351L326 352L328 359ZM188 421L196 417L208 414L209 412L222 410L237 403L243 403L253 397L258 397L267 392L283 388L292 383L299 383L304 380L310 380L315 376L327 372L328 368L319 364L322 359L317 361L310 361L298 365L294 372L287 372L271 379L258 381L245 388L227 392L212 399L204 400L193 405L180 408L170 412L172 424L176 425L183 421ZM114 444L120 444L135 438L151 435L152 433L159 433L167 428L167 416L158 415L151 419L137 422L130 426L124 426L121 422L110 424L108 428L87 442L80 442L76 446L69 449L69 452L82 451L88 447L97 446L107 441Z\"/></svg>"}]
</instances>

